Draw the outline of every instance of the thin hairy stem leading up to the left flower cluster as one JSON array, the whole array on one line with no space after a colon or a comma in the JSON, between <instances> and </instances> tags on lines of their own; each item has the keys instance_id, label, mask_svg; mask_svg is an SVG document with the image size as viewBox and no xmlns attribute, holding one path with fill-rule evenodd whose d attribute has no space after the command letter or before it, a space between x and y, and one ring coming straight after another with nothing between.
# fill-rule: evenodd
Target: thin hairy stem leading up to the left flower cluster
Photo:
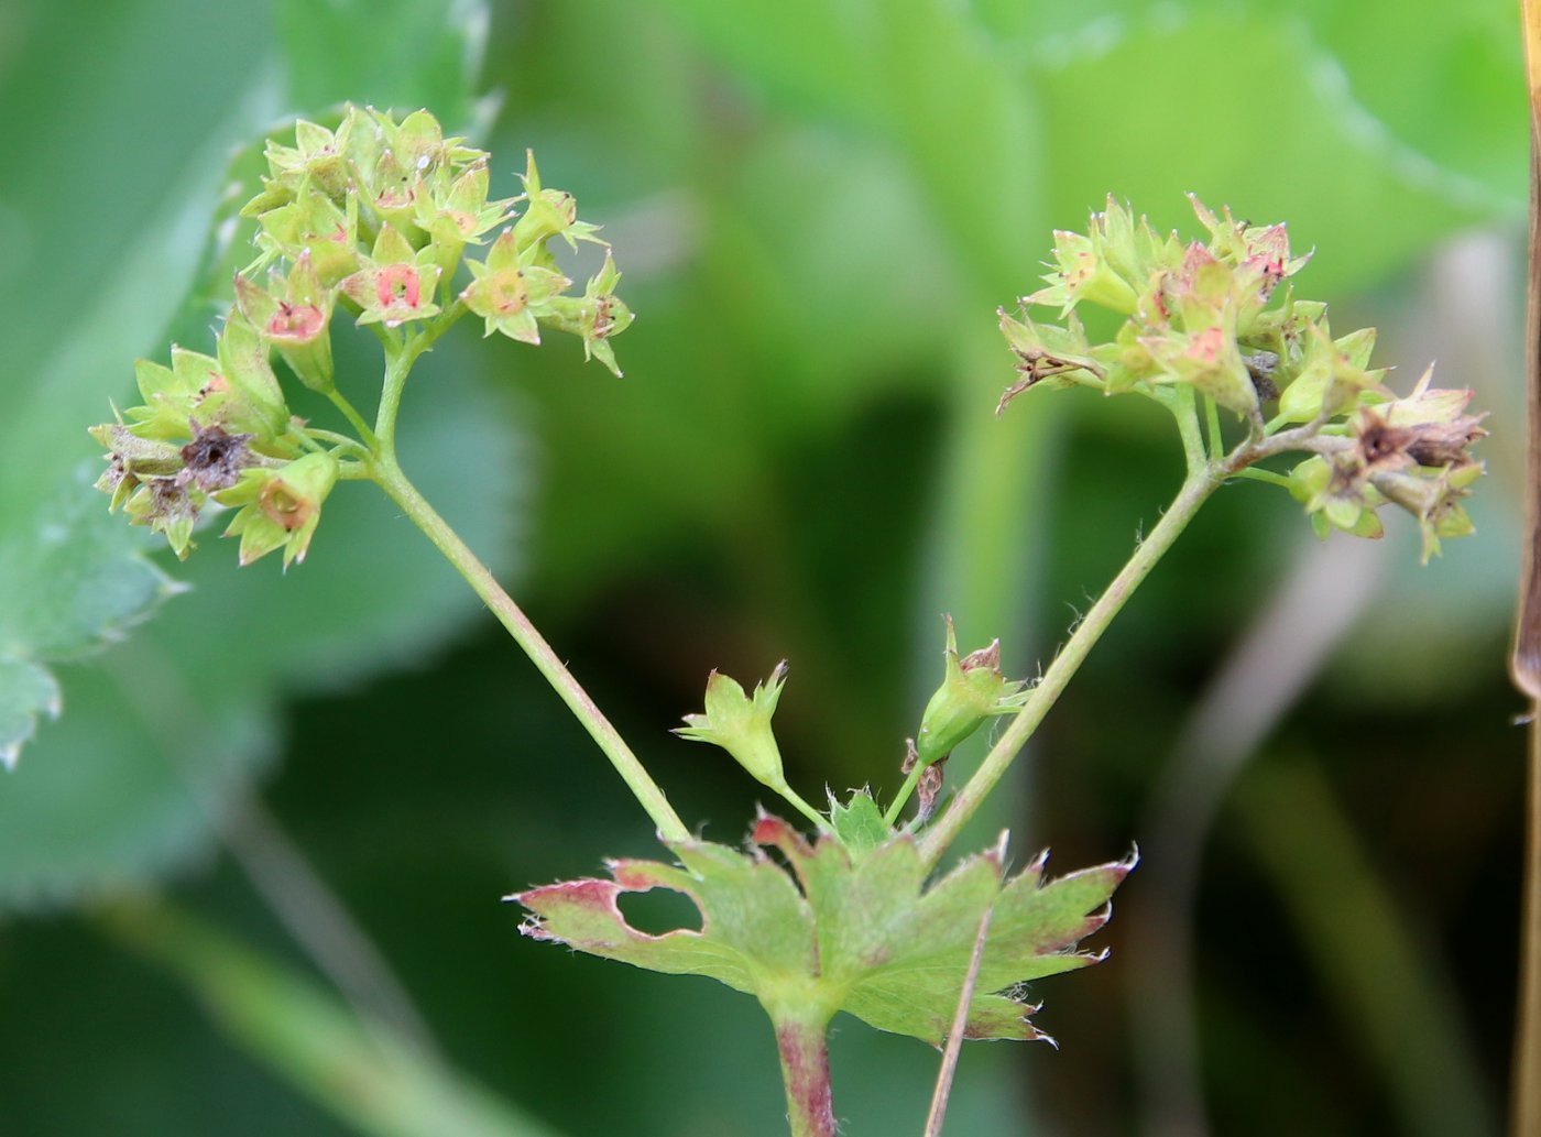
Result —
<instances>
[{"instance_id":1,"label":"thin hairy stem leading up to the left flower cluster","mask_svg":"<svg viewBox=\"0 0 1541 1137\"><path fill-rule=\"evenodd\" d=\"M394 364L396 361L393 361ZM390 374L390 371L387 373ZM390 391L390 382L387 382L387 393ZM399 384L396 397L399 399ZM381 399L381 408L385 410L385 397ZM394 414L394 404L391 408L391 416ZM382 418L381 441L385 447L390 445L390 428L394 427L393 418ZM530 618L524 615L518 604L502 590L492 572L484 565L475 553L465 545L464 541L450 528L450 525L441 518L435 508L427 502L427 499L418 493L418 488L407 481L407 475L402 473L401 465L396 462L394 453L385 450L376 458L374 462L374 479L379 482L381 488L385 490L387 496L401 510L411 518L413 524L421 528L427 538L444 553L445 559L455 565L455 568L465 578L465 581L475 589L476 595L482 598L482 602L492 609L492 613L498 618L513 636L515 642L524 649L524 653L530 656L535 667L546 676L546 681L556 689L556 693L562 698L562 703L569 706L578 721L582 723L584 729L599 744L606 758L615 766L616 773L627 784L636 800L641 803L643 809L647 810L647 817L653 820L658 827L658 833L666 840L672 841L687 841L690 838L690 830L686 829L680 815L675 813L669 800L658 784L649 776L647 770L638 761L636 755L626 744L616 729L610 724L593 699L589 698L578 679L573 678L572 672L562 664L552 646L546 642L541 633L530 622Z\"/></svg>"}]
</instances>

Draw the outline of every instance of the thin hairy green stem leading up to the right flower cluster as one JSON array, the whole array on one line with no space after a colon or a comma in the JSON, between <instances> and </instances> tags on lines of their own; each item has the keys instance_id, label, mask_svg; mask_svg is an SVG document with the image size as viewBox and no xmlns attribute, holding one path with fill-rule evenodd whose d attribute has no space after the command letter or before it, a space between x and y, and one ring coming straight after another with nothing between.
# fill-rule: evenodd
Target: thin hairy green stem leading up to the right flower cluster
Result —
<instances>
[{"instance_id":1,"label":"thin hairy green stem leading up to the right flower cluster","mask_svg":"<svg viewBox=\"0 0 1541 1137\"><path fill-rule=\"evenodd\" d=\"M1182 418L1179 416L1180 421ZM1156 528L1150 532L1150 536L1134 550L1134 556L1113 578L1113 584L1108 585L1108 590L1091 607L1091 612L1076 627L1071 638L1065 641L1065 647L1054 656L1054 662L1049 664L1043 678L1032 689L1022 710L1017 712L1016 718L1011 719L1011 724L989 749L989 753L985 755L985 761L980 763L974 776L959 790L959 795L937 820L935 826L926 832L920 843L920 855L928 866L935 864L942 858L942 854L957 838L963 824L974 817L974 812L995 787L995 783L1000 781L1017 756L1017 752L1037 729L1039 723L1043 721L1049 707L1059 699L1065 690L1065 684L1069 683L1071 676L1091 652L1093 644L1102 638L1102 633L1106 632L1108 624L1128 601L1130 595L1150 575L1150 570L1162 555L1171 548L1205 499L1220 487L1227 473L1225 467L1208 465L1188 473L1182 488L1173 499L1171 507L1156 524Z\"/></svg>"}]
</instances>

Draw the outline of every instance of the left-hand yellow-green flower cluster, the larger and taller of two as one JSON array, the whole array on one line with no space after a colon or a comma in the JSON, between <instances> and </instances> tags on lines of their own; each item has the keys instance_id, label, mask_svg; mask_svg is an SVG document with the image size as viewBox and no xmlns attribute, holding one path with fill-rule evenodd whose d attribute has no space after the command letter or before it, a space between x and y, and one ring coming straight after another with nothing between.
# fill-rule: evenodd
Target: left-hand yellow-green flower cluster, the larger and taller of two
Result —
<instances>
[{"instance_id":1,"label":"left-hand yellow-green flower cluster, the larger and taller of two","mask_svg":"<svg viewBox=\"0 0 1541 1137\"><path fill-rule=\"evenodd\" d=\"M268 142L268 176L242 210L257 257L236 276L216 354L173 347L170 368L140 361L143 402L91 430L108 450L97 485L112 508L186 556L203 510L234 507L227 535L240 536L242 564L280 547L285 565L302 559L342 467L371 439L337 445L293 418L273 357L337 401L339 308L378 325L387 351L415 336L425 345L470 311L487 334L527 344L541 328L576 334L586 357L619 374L609 340L632 313L615 296L609 245L572 194L541 185L533 156L519 197L488 199L487 159L427 111L396 122L350 106L336 129L300 122L294 145ZM581 296L547 248L556 237L604 248ZM467 256L482 247L482 259Z\"/></svg>"}]
</instances>

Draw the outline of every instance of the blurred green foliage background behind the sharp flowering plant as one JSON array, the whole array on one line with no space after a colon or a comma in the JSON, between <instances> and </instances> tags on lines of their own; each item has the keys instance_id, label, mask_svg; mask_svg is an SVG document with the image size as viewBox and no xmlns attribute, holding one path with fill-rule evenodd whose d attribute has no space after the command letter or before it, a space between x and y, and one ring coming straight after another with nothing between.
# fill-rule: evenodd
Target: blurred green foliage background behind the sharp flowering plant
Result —
<instances>
[{"instance_id":1,"label":"blurred green foliage background behind the sharp flowering plant","mask_svg":"<svg viewBox=\"0 0 1541 1137\"><path fill-rule=\"evenodd\" d=\"M1097 647L969 841L1145 863L1108 963L1034 992L1062 1049L966 1048L946 1132L1496 1134L1523 783L1510 8L0 3L0 678L62 664L65 704L0 776L0 1132L784 1132L750 1000L518 935L501 895L652 835L379 495L342 487L282 579L213 533L154 553L191 587L105 652L39 632L60 589L160 587L86 488L83 427L134 356L208 348L243 251L208 219L250 191L250 146L351 99L428 105L504 194L533 146L615 242L626 379L575 340L462 330L413 379L404 462L713 840L757 793L667 733L709 669L789 659L794 783L892 792L940 615L1034 672L1176 488L1153 408L991 414L995 307L1108 193L1185 233L1190 190L1287 220L1335 328L1378 325L1402 384L1438 357L1475 387L1476 538L1419 568L1402 519L1318 545L1237 485ZM844 1132L920 1132L937 1055L837 1028Z\"/></svg>"}]
</instances>

